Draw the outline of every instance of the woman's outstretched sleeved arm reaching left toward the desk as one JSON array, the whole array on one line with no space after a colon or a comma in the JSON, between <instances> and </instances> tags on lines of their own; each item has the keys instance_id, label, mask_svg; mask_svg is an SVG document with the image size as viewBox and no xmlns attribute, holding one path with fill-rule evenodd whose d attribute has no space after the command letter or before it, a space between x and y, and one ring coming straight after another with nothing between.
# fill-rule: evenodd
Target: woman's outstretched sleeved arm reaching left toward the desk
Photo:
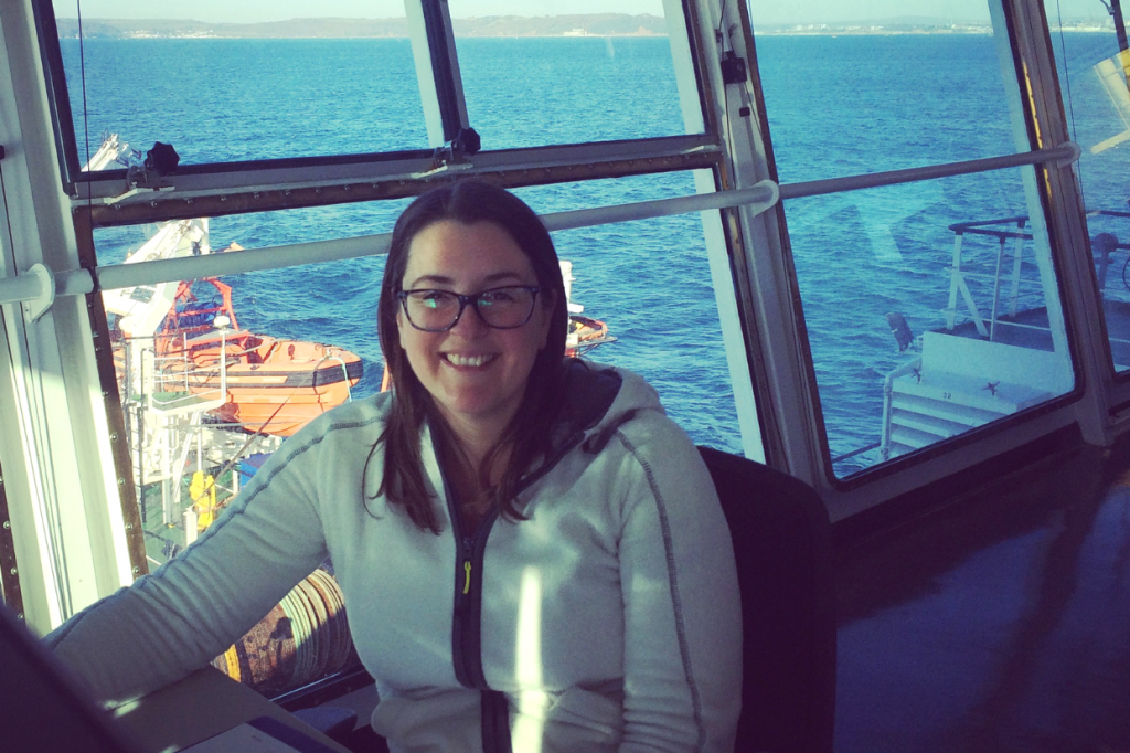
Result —
<instances>
[{"instance_id":1,"label":"woman's outstretched sleeved arm reaching left toward the desk","mask_svg":"<svg viewBox=\"0 0 1130 753\"><path fill-rule=\"evenodd\" d=\"M314 442L296 434L194 544L46 637L96 698L129 700L206 665L325 559Z\"/></svg>"}]
</instances>

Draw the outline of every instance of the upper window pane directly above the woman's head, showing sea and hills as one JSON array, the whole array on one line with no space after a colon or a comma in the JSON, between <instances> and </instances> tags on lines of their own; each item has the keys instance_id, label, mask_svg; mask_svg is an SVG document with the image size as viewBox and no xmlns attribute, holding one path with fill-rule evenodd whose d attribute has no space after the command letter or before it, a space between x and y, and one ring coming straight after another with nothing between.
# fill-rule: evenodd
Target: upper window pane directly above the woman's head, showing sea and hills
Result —
<instances>
[{"instance_id":1,"label":"upper window pane directly above the woman's head, showing sea and hills","mask_svg":"<svg viewBox=\"0 0 1130 753\"><path fill-rule=\"evenodd\" d=\"M686 27L660 0L449 5L484 149L686 132L668 37Z\"/></svg>"}]
</instances>

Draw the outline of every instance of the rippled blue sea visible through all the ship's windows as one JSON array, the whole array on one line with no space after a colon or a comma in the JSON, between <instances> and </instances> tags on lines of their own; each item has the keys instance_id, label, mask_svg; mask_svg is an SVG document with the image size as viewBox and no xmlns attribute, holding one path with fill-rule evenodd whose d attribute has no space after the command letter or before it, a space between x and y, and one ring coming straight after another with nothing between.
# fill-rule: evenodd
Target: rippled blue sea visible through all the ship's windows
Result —
<instances>
[{"instance_id":1,"label":"rippled blue sea visible through all the ship's windows","mask_svg":"<svg viewBox=\"0 0 1130 753\"><path fill-rule=\"evenodd\" d=\"M1123 130L1090 71L1116 51L1113 35L1055 35L1054 43L1058 55L1066 52L1060 76L1071 85L1078 140L1086 148ZM103 132L139 149L171 142L184 164L427 146L407 40L94 38L81 58L78 41L63 40L62 49L80 159ZM458 41L458 52L485 149L684 132L666 38L468 38ZM765 36L757 54L783 183L1018 150L988 35ZM1124 159L1118 148L1084 158L1088 208L1125 207L1118 180ZM693 192L687 173L518 191L542 213ZM405 205L217 217L211 244L386 232ZM1017 170L785 204L833 457L878 441L884 376L907 360L886 314L904 314L915 335L941 326L954 243L948 226L1027 211ZM97 231L101 263L121 261L153 230ZM574 265L574 302L618 338L593 357L647 378L696 442L740 451L698 217L560 232L555 242ZM967 261L989 265L996 249L970 240ZM366 369L360 396L380 386L374 320L382 269L374 257L227 282L241 327L358 353ZM846 475L870 461L859 456L836 470Z\"/></svg>"}]
</instances>

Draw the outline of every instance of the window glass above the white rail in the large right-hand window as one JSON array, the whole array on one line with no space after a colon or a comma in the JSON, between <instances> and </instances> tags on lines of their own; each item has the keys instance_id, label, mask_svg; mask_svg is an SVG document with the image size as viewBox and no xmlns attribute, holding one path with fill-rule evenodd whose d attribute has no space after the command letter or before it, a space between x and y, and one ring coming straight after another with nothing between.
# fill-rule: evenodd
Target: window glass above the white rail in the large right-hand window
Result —
<instances>
[{"instance_id":1,"label":"window glass above the white rail in the large right-hand window","mask_svg":"<svg viewBox=\"0 0 1130 753\"><path fill-rule=\"evenodd\" d=\"M983 0L749 11L782 182L1017 150Z\"/></svg>"}]
</instances>

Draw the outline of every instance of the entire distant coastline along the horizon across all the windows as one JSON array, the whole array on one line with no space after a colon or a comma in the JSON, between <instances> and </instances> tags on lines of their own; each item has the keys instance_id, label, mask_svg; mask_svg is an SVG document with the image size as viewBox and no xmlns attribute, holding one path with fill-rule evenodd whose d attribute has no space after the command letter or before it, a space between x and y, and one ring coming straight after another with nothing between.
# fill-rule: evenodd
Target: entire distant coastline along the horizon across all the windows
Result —
<instances>
[{"instance_id":1,"label":"entire distant coastline along the horizon across all the windows","mask_svg":"<svg viewBox=\"0 0 1130 753\"><path fill-rule=\"evenodd\" d=\"M58 18L60 38L78 38L78 19ZM651 15L486 16L455 18L457 37L667 36L667 21ZM1057 26L1051 29L1057 33ZM1064 32L1113 32L1107 20L1064 23ZM86 18L85 38L133 40L319 40L407 38L403 18L294 18L259 24L211 24L189 19ZM758 36L890 36L902 34L991 34L983 23L893 19L860 24L774 24L757 26Z\"/></svg>"}]
</instances>

